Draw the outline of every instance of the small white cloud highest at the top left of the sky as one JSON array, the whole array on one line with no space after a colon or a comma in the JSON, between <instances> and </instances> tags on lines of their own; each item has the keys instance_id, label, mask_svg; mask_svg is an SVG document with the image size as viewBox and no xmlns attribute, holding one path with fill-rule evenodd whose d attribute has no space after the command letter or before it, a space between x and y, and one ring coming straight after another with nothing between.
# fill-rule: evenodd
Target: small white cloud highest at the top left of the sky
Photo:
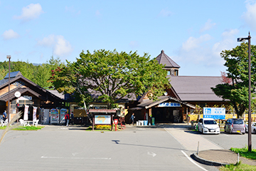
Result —
<instances>
[{"instance_id":1,"label":"small white cloud highest at the top left of the sky","mask_svg":"<svg viewBox=\"0 0 256 171\"><path fill-rule=\"evenodd\" d=\"M43 9L41 4L29 4L22 8L21 16L14 16L14 19L21 19L22 21L31 21L38 18L43 14Z\"/></svg>"}]
</instances>

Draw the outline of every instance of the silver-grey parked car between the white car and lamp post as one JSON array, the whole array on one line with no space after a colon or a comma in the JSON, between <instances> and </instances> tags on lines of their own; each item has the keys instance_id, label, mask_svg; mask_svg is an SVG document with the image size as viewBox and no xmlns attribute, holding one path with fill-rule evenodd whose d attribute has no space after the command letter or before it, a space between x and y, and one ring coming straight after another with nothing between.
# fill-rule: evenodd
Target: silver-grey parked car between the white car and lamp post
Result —
<instances>
[{"instance_id":1,"label":"silver-grey parked car between the white car and lamp post","mask_svg":"<svg viewBox=\"0 0 256 171\"><path fill-rule=\"evenodd\" d=\"M228 133L245 134L245 121L242 119L230 118L225 123L224 131Z\"/></svg>"}]
</instances>

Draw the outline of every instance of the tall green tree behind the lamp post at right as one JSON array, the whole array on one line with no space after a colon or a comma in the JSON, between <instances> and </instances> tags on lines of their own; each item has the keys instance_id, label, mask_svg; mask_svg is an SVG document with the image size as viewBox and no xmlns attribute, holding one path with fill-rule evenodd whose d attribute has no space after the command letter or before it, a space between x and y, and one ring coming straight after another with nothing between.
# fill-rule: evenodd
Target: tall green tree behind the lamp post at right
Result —
<instances>
[{"instance_id":1,"label":"tall green tree behind the lamp post at right","mask_svg":"<svg viewBox=\"0 0 256 171\"><path fill-rule=\"evenodd\" d=\"M230 103L235 108L238 116L248 108L249 98L249 78L248 78L248 44L241 43L240 46L232 50L225 50L220 53L224 58L227 69L227 78L231 81L224 81L223 84L218 84L212 88L214 93L219 97L230 100ZM256 46L251 46L251 92L252 97L255 97L256 87ZM225 79L227 80L227 79ZM253 101L253 98L252 98Z\"/></svg>"}]
</instances>

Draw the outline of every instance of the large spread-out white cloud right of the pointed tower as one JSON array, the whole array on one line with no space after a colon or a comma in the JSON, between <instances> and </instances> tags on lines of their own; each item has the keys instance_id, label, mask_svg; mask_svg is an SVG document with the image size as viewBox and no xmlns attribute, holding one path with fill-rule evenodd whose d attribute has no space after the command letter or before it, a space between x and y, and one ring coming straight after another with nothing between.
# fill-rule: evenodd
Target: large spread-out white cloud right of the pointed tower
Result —
<instances>
[{"instance_id":1,"label":"large spread-out white cloud right of the pointed tower","mask_svg":"<svg viewBox=\"0 0 256 171\"><path fill-rule=\"evenodd\" d=\"M184 42L178 50L178 56L175 61L186 61L195 66L214 67L223 66L224 60L220 57L221 51L229 50L238 46L235 41L238 29L224 31L221 35L221 41L213 43L212 36L205 34L198 38L190 37Z\"/></svg>"}]
</instances>

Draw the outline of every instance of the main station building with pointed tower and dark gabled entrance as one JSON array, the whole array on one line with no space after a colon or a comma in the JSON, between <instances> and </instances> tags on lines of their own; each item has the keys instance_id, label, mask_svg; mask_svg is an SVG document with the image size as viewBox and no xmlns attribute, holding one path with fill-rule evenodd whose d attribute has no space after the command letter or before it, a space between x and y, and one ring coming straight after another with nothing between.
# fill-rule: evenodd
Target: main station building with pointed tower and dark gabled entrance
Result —
<instances>
[{"instance_id":1,"label":"main station building with pointed tower and dark gabled entrance","mask_svg":"<svg viewBox=\"0 0 256 171\"><path fill-rule=\"evenodd\" d=\"M149 100L147 93L144 94L136 107L129 108L126 120L135 113L137 120L151 121L150 118L154 118L156 123L180 123L196 110L196 105L203 108L206 105L227 104L211 90L223 83L220 76L178 76L180 66L164 51L156 57L156 61L165 65L163 69L167 71L171 88L155 102Z\"/></svg>"}]
</instances>

